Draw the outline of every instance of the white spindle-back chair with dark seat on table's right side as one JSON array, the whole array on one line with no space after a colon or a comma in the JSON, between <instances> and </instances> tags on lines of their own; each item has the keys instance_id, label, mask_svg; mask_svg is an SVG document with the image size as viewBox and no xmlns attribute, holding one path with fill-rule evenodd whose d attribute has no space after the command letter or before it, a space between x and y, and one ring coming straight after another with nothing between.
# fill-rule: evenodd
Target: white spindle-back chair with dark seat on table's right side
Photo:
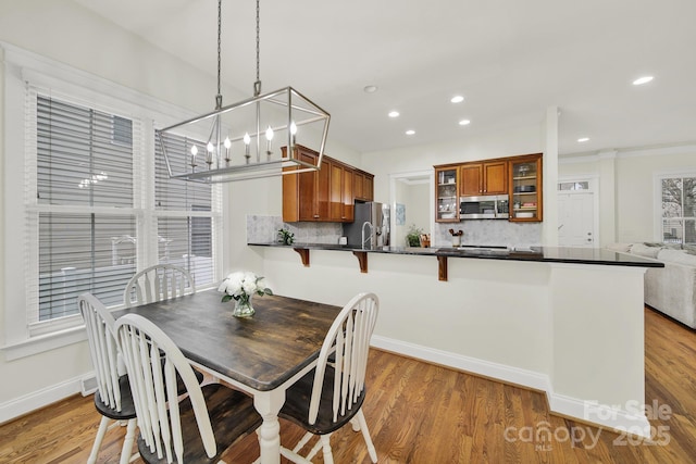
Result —
<instances>
[{"instance_id":1,"label":"white spindle-back chair with dark seat on table's right side","mask_svg":"<svg viewBox=\"0 0 696 464\"><path fill-rule=\"evenodd\" d=\"M316 367L286 391L279 417L307 430L293 450L281 448L281 453L288 460L307 463L323 449L324 463L333 463L331 434L350 422L353 430L362 431L372 462L377 462L362 403L370 338L378 305L374 293L352 298L326 334ZM320 439L307 454L300 455L313 436Z\"/></svg>"}]
</instances>

